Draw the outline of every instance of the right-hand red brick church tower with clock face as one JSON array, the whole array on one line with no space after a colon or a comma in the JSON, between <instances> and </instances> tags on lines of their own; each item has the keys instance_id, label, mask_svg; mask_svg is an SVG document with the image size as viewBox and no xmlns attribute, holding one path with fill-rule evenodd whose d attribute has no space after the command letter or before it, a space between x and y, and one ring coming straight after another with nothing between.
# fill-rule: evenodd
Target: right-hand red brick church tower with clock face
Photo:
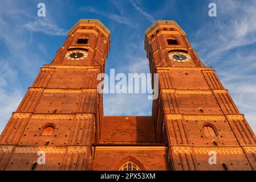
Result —
<instances>
[{"instance_id":1,"label":"right-hand red brick church tower with clock face","mask_svg":"<svg viewBox=\"0 0 256 182\"><path fill-rule=\"evenodd\" d=\"M173 170L255 170L256 138L211 67L201 63L174 21L145 31L151 73L159 74L153 101L156 141L168 143ZM209 164L209 152L217 164ZM212 153L211 153L212 154ZM211 155L210 154L210 155Z\"/></svg>"}]
</instances>

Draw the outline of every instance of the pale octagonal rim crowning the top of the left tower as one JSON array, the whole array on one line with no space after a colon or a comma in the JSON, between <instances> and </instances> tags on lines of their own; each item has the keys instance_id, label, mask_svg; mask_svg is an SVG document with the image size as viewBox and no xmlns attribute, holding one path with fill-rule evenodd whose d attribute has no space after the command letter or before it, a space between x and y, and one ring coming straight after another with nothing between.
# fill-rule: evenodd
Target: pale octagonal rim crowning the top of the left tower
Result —
<instances>
[{"instance_id":1,"label":"pale octagonal rim crowning the top of the left tower","mask_svg":"<svg viewBox=\"0 0 256 182\"><path fill-rule=\"evenodd\" d=\"M68 35L70 35L72 32L74 32L75 28L78 27L78 24L92 24L95 26L99 26L102 31L105 32L108 36L110 35L110 30L104 26L103 23L100 22L98 19L80 19L68 32Z\"/></svg>"}]
</instances>

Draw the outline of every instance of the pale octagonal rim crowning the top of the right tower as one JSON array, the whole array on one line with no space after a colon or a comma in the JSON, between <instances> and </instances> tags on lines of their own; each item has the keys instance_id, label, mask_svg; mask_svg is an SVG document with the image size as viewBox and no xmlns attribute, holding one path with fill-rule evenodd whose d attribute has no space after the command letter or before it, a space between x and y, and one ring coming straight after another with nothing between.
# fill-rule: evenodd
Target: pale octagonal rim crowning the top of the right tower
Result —
<instances>
[{"instance_id":1,"label":"pale octagonal rim crowning the top of the right tower","mask_svg":"<svg viewBox=\"0 0 256 182\"><path fill-rule=\"evenodd\" d=\"M146 31L145 35L148 36L155 28L162 26L162 27L176 27L177 31L179 31L182 35L186 35L184 30L174 21L174 20L156 20L155 23L152 24Z\"/></svg>"}]
</instances>

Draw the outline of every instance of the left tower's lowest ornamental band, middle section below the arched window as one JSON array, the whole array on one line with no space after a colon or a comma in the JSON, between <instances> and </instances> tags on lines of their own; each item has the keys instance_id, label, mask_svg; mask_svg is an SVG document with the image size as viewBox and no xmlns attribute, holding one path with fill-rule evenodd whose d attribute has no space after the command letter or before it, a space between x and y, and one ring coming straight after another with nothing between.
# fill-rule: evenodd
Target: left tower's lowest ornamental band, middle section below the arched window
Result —
<instances>
[{"instance_id":1,"label":"left tower's lowest ornamental band, middle section below the arched window","mask_svg":"<svg viewBox=\"0 0 256 182\"><path fill-rule=\"evenodd\" d=\"M18 146L15 147L15 154L37 154L38 151L44 151L46 154L64 154L66 147L52 146Z\"/></svg>"}]
</instances>

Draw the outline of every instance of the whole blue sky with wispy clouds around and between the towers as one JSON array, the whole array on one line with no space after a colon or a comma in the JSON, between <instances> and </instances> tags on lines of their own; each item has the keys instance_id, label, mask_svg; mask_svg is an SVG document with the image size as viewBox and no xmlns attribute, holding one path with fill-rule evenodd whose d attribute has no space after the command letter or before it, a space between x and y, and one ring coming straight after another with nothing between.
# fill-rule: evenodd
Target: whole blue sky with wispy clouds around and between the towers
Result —
<instances>
[{"instance_id":1,"label":"whole blue sky with wispy clouds around and between the towers","mask_svg":"<svg viewBox=\"0 0 256 182\"><path fill-rule=\"evenodd\" d=\"M46 17L37 5L46 5ZM208 5L217 5L217 17ZM202 62L216 70L235 104L256 131L256 1L1 1L0 132L40 67L50 64L81 18L111 30L106 72L149 73L144 31L157 19L176 20ZM115 103L115 104L112 104ZM147 94L104 95L105 115L151 115Z\"/></svg>"}]
</instances>

